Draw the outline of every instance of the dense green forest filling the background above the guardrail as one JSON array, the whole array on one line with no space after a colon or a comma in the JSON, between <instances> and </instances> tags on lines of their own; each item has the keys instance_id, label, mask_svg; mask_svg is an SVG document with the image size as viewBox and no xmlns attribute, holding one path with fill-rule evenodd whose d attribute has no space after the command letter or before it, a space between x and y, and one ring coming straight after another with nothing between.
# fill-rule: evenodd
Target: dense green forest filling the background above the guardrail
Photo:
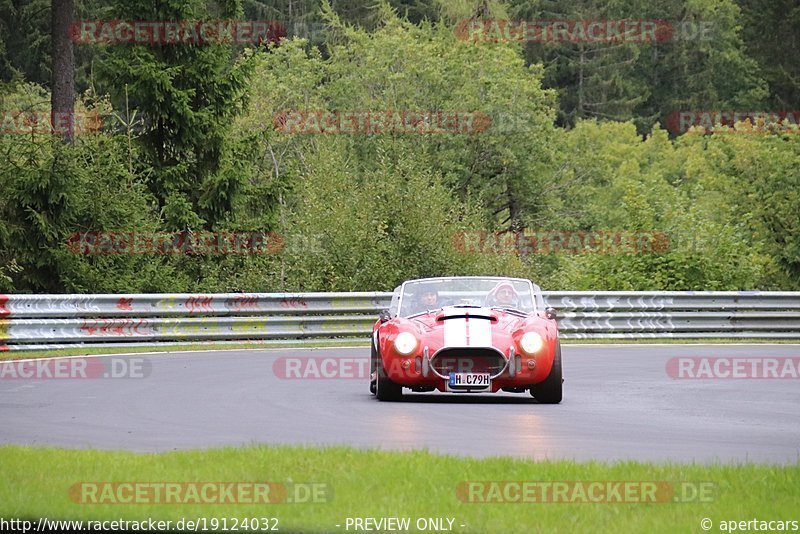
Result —
<instances>
[{"instance_id":1,"label":"dense green forest filling the background above the guardrail","mask_svg":"<svg viewBox=\"0 0 800 534\"><path fill-rule=\"evenodd\" d=\"M0 292L800 290L798 28L797 0L0 0ZM227 235L268 243L195 246Z\"/></svg>"}]
</instances>

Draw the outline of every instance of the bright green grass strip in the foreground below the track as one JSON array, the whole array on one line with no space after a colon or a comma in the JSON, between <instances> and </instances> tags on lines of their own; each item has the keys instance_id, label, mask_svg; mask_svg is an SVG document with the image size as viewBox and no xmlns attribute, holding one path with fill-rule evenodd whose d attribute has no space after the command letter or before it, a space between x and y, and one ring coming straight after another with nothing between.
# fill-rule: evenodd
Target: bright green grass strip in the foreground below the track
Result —
<instances>
[{"instance_id":1,"label":"bright green grass strip in the foreground below the track","mask_svg":"<svg viewBox=\"0 0 800 534\"><path fill-rule=\"evenodd\" d=\"M721 520L800 520L800 464L533 462L423 451L265 446L159 454L5 446L0 447L0 479L4 518L177 521L270 516L279 519L281 532L347 532L347 517L454 517L454 532L469 533L702 532L703 518L711 519L712 531L719 532ZM69 488L79 482L289 479L328 484L329 502L112 505L78 504L69 496ZM711 482L716 491L710 502L486 504L459 500L456 486L465 480Z\"/></svg>"}]
</instances>

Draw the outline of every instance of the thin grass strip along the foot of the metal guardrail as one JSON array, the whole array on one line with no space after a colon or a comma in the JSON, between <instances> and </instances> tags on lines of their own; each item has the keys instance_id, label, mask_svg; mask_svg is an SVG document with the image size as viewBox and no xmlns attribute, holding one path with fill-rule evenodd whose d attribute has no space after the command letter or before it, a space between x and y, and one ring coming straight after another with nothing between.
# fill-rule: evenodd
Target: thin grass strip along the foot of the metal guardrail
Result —
<instances>
[{"instance_id":1,"label":"thin grass strip along the foot of the metal guardrail","mask_svg":"<svg viewBox=\"0 0 800 534\"><path fill-rule=\"evenodd\" d=\"M642 345L642 344L656 344L656 345L694 345L694 344L786 344L797 345L800 344L798 339L723 339L723 338L709 338L709 339L564 339L564 345ZM142 353L142 352L186 352L186 351L200 351L200 350L245 350L245 349L267 349L267 348L335 348L335 347L369 347L369 341L363 339L353 339L352 342L346 345L331 343L326 341L319 341L314 345L303 343L215 343L215 344L187 344L187 345L159 345L151 347L77 347L69 349L55 349L55 350L19 350L0 352L0 361L2 360L20 360L29 358L57 358L62 356L84 356L90 354L128 354L128 353Z\"/></svg>"}]
</instances>

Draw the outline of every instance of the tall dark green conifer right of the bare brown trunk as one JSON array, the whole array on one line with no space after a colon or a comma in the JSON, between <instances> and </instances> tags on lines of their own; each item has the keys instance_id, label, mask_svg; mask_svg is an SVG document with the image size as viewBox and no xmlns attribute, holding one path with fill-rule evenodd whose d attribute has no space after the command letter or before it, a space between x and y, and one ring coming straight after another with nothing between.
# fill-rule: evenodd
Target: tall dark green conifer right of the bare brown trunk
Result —
<instances>
[{"instance_id":1,"label":"tall dark green conifer right of the bare brown trunk","mask_svg":"<svg viewBox=\"0 0 800 534\"><path fill-rule=\"evenodd\" d=\"M120 1L117 18L192 21L231 19L238 1ZM152 166L149 187L171 230L213 229L230 213L243 180L241 147L230 144L246 101L250 63L232 44L150 43L108 47L101 78L118 102L130 99L146 123L140 141Z\"/></svg>"}]
</instances>

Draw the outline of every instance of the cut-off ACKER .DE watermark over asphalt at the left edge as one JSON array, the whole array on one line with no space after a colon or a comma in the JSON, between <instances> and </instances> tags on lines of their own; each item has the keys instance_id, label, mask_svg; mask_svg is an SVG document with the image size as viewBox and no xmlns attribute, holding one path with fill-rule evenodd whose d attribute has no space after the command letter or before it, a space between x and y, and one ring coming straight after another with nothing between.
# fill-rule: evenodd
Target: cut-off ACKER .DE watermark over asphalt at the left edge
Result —
<instances>
[{"instance_id":1,"label":"cut-off ACKER .DE watermark over asphalt at the left edge","mask_svg":"<svg viewBox=\"0 0 800 534\"><path fill-rule=\"evenodd\" d=\"M0 380L82 380L147 378L152 363L145 358L41 358L0 361Z\"/></svg>"}]
</instances>

